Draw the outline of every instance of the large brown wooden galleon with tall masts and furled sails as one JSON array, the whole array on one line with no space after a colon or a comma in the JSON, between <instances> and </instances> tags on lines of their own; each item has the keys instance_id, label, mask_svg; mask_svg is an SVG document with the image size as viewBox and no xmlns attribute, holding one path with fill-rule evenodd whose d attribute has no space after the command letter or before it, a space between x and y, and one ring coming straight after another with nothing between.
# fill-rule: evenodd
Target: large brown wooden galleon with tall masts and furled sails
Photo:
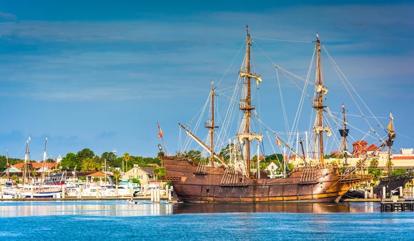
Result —
<instances>
[{"instance_id":1,"label":"large brown wooden galleon with tall masts and furled sails","mask_svg":"<svg viewBox=\"0 0 414 241\"><path fill-rule=\"evenodd\" d=\"M363 158L357 166L349 168L346 173L340 173L339 166L324 162L324 136L331 135L331 129L324 126L322 117L322 113L326 111L324 97L328 90L322 84L321 41L318 35L315 41L317 59L315 93L312 101L312 107L316 113L313 135L317 155L306 157L302 139L302 155L299 155L288 141L275 135L277 145L282 146L283 144L297 157L300 157L304 165L297 166L291 171L286 171L286 165L284 165L279 175L270 175L270 173L260 171L259 150L264 142L264 136L262 133L252 131L252 119L257 119L255 106L252 103L252 86L261 83L262 76L251 72L250 46L252 39L248 32L248 26L246 26L246 30L246 55L242 69L239 71L240 85L237 85L242 86L242 90L234 92L241 93L241 97L230 98L233 106L236 105L235 99L240 99L238 108L242 112L242 121L237 133L233 134L233 140L228 141L226 157L221 155L222 153L217 153L215 147L215 132L218 126L215 123L213 81L209 97L208 122L204 124L204 127L209 130L206 142L197 137L189 125L179 124L190 139L204 148L209 157L201 157L197 160L186 155L188 153L185 152L178 152L177 155L163 154L161 157L166 168L166 175L161 177L161 180L172 182L179 202L338 202L351 187L372 180L373 175L359 174L356 170L384 146L393 142L395 133L389 135L388 139L385 139L375 151ZM235 118L227 115L224 117L223 123L232 119ZM230 125L224 124L221 128L221 131L226 130L230 130ZM343 131L344 135L347 135L346 126ZM219 141L221 144L223 143L222 138ZM257 151L253 151L254 149ZM257 166L256 171L252 166Z\"/></svg>"}]
</instances>

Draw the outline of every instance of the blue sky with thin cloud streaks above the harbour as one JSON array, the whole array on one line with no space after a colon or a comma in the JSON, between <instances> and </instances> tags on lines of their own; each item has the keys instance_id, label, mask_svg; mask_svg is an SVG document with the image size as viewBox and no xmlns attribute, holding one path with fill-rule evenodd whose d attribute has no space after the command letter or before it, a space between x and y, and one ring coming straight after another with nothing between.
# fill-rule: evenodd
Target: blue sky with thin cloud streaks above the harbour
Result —
<instances>
[{"instance_id":1,"label":"blue sky with thin cloud streaks above the harbour","mask_svg":"<svg viewBox=\"0 0 414 241\"><path fill-rule=\"evenodd\" d=\"M175 151L177 123L204 104L210 79L224 75L242 46L246 23L253 37L313 41L319 32L374 115L393 110L397 133L409 137L399 135L395 148L414 147L412 12L409 1L0 1L0 150L23 157L30 135L34 160L46 137L52 157L85 147L154 157L159 122ZM255 41L306 76L313 44ZM264 117L283 131L275 70L259 55L262 108L272 110ZM223 88L237 79L241 57ZM331 93L339 91L335 81L327 82ZM287 83L284 91L297 93ZM331 95L332 110L344 99ZM287 107L294 117L297 103Z\"/></svg>"}]
</instances>

